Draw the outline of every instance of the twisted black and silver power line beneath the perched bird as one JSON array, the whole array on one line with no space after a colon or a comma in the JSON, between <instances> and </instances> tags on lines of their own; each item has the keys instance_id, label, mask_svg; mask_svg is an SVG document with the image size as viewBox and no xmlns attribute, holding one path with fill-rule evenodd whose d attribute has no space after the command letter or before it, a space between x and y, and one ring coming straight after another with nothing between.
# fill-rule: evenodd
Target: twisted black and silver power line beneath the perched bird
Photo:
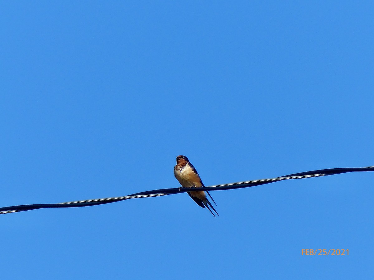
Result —
<instances>
[{"instance_id":1,"label":"twisted black and silver power line beneath the perched bird","mask_svg":"<svg viewBox=\"0 0 374 280\"><path fill-rule=\"evenodd\" d=\"M304 179L304 178L313 178L321 177L328 175L335 175L348 172L364 172L364 171L374 171L374 166L370 167L357 167L357 168L329 168L329 169L320 169L314 171L300 172L295 174L289 174L282 177L276 177L271 179L260 179L252 181L243 181L230 184L221 184L209 187L194 187L194 191L198 190L232 190L232 189L241 189L247 187L260 186L264 184L274 183L283 180L292 180L292 179ZM63 203L54 203L54 204L29 204L29 205L16 205L0 208L0 214L9 214L15 212L29 211L34 209L42 208L71 208L71 207L84 207L84 206L93 206L101 205L106 203L117 202L121 200L127 200L132 198L145 198L145 197L155 197L155 196L164 196L164 195L175 195L177 193L185 193L191 191L191 188L172 188L172 189L159 189L159 190L149 190L146 192L134 193L128 196L118 196L118 197L108 197L108 198L99 198L99 199L87 199Z\"/></svg>"}]
</instances>

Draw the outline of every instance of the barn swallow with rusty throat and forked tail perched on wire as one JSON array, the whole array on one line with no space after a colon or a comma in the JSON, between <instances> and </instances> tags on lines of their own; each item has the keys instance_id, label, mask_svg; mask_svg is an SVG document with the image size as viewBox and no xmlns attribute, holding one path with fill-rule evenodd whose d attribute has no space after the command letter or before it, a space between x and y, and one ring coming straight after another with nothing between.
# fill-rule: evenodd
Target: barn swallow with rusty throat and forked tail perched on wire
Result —
<instances>
[{"instance_id":1,"label":"barn swallow with rusty throat and forked tail perched on wire","mask_svg":"<svg viewBox=\"0 0 374 280\"><path fill-rule=\"evenodd\" d=\"M199 173L197 173L196 169L193 167L193 165L190 163L188 158L186 156L177 156L177 165L174 167L174 176L177 178L179 183L182 187L190 188L190 187L205 187L203 182L200 179ZM209 202L209 200L206 198L205 192L202 190L196 191L196 192L187 192L188 195L191 196L194 202L197 203L197 205L201 206L202 208L208 208L208 210L213 214L212 210L219 216L217 211L215 211L212 204ZM217 206L217 203L215 203L212 196L209 194L208 191L206 193L209 195L209 197L214 202L215 206Z\"/></svg>"}]
</instances>

